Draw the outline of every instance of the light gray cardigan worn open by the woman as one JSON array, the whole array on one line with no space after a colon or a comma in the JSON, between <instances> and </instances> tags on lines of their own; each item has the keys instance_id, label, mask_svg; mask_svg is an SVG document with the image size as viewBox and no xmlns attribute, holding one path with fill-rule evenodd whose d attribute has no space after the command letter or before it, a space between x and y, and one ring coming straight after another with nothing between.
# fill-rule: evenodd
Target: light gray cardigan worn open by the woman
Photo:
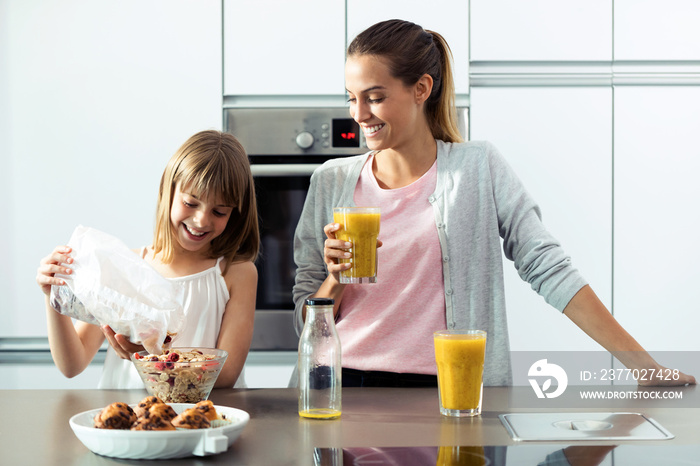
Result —
<instances>
[{"instance_id":1,"label":"light gray cardigan worn open by the woman","mask_svg":"<svg viewBox=\"0 0 700 466\"><path fill-rule=\"evenodd\" d=\"M437 185L428 201L443 254L447 327L486 330L484 384L508 385L512 377L500 239L520 277L559 311L586 281L544 228L539 207L493 145L438 140L437 148ZM304 300L327 276L323 227L332 220L333 207L354 205L368 155L330 160L311 177L294 238L297 333L303 327Z\"/></svg>"}]
</instances>

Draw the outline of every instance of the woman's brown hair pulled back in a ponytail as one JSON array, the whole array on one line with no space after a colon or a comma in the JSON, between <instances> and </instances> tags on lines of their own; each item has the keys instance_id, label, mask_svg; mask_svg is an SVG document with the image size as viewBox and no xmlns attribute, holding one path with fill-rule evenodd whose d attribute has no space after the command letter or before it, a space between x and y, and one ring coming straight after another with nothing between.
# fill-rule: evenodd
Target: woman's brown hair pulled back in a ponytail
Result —
<instances>
[{"instance_id":1,"label":"woman's brown hair pulled back in a ponytail","mask_svg":"<svg viewBox=\"0 0 700 466\"><path fill-rule=\"evenodd\" d=\"M462 142L457 124L452 52L445 39L417 24L391 19L370 26L350 43L348 56L384 58L392 76L412 86L425 74L433 78L433 90L425 114L435 139Z\"/></svg>"}]
</instances>

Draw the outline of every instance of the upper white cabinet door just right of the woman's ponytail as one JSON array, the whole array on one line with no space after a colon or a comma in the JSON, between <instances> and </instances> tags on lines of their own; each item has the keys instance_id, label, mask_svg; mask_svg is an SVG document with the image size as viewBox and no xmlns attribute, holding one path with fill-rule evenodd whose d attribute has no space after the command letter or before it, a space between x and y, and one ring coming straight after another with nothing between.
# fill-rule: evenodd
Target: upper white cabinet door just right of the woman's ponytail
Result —
<instances>
[{"instance_id":1,"label":"upper white cabinet door just right of the woman's ponytail","mask_svg":"<svg viewBox=\"0 0 700 466\"><path fill-rule=\"evenodd\" d=\"M613 0L471 0L472 61L612 59Z\"/></svg>"}]
</instances>

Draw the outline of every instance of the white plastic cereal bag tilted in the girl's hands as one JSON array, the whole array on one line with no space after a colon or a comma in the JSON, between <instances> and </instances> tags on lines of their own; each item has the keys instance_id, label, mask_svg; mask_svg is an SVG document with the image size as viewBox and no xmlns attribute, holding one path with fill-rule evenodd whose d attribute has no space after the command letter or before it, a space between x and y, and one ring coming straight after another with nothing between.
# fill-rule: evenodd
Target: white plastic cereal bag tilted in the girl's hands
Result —
<instances>
[{"instance_id":1,"label":"white plastic cereal bag tilted in the girl's hands","mask_svg":"<svg viewBox=\"0 0 700 466\"><path fill-rule=\"evenodd\" d=\"M148 352L162 353L166 336L184 325L184 288L94 228L79 225L68 246L73 273L56 274L66 286L51 287L51 306L84 322L109 325Z\"/></svg>"}]
</instances>

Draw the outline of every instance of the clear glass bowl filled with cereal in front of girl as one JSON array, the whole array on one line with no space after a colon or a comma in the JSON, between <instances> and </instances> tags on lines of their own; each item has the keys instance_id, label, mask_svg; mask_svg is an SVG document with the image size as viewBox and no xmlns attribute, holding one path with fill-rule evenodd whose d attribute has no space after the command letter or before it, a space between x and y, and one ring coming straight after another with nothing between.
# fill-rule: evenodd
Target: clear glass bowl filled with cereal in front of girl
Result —
<instances>
[{"instance_id":1,"label":"clear glass bowl filled with cereal in front of girl","mask_svg":"<svg viewBox=\"0 0 700 466\"><path fill-rule=\"evenodd\" d=\"M171 348L134 353L131 361L150 395L166 403L197 403L209 397L227 357L216 348Z\"/></svg>"}]
</instances>

